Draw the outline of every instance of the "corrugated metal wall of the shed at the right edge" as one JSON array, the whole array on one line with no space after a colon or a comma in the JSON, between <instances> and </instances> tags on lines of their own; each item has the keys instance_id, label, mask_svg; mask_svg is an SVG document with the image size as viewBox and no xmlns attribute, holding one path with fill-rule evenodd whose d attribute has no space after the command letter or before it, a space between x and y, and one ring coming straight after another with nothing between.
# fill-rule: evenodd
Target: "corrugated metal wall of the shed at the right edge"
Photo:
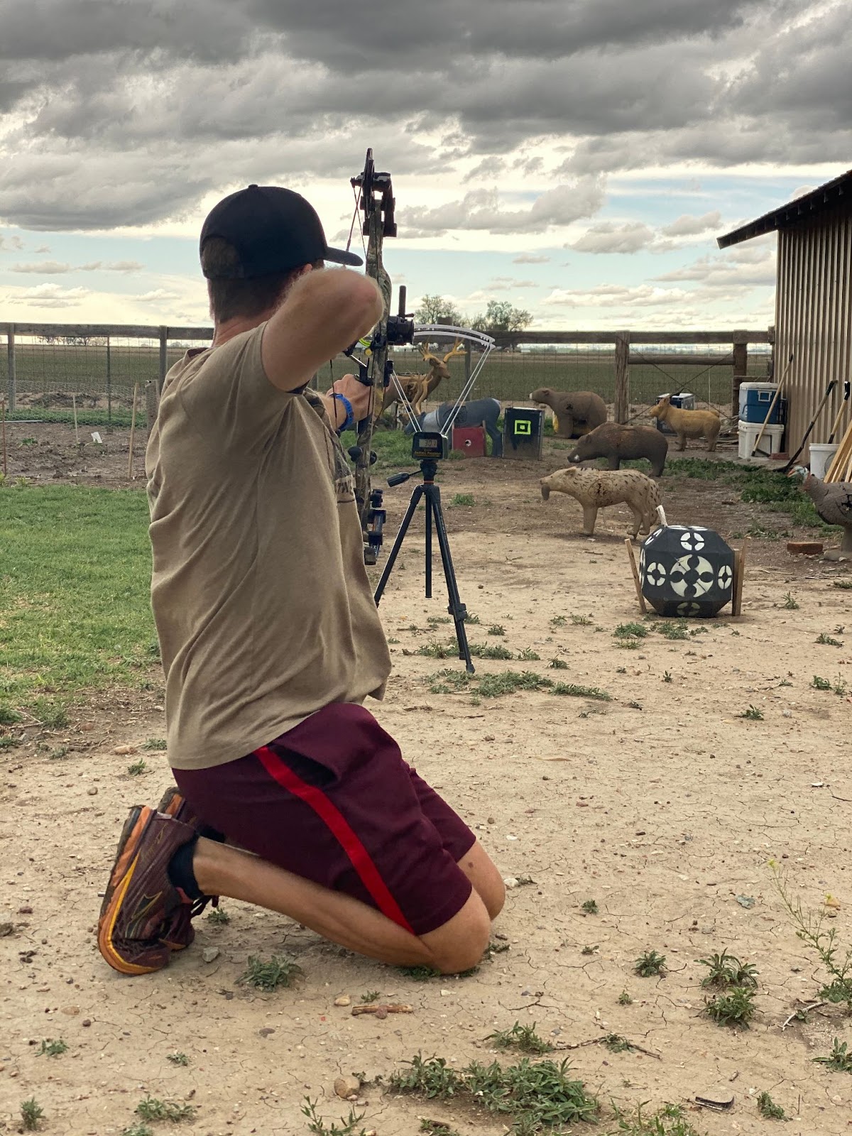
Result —
<instances>
[{"instance_id":1,"label":"corrugated metal wall of the shed at the right edge","mask_svg":"<svg viewBox=\"0 0 852 1136\"><path fill-rule=\"evenodd\" d=\"M817 419L811 442L827 442L852 378L852 203L812 222L778 232L775 307L775 378L791 352L793 365L782 394L790 399L786 449L795 452L833 378L837 386ZM852 408L846 403L835 442ZM808 460L808 450L802 453Z\"/></svg>"}]
</instances>

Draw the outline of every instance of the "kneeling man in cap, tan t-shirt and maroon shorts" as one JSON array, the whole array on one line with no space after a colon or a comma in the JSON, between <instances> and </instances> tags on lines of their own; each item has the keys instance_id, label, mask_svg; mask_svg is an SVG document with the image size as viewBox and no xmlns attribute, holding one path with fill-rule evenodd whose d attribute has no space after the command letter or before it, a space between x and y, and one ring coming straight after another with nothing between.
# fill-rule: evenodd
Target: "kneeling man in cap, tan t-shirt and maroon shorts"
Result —
<instances>
[{"instance_id":1,"label":"kneeling man in cap, tan t-shirt and maroon shorts","mask_svg":"<svg viewBox=\"0 0 852 1136\"><path fill-rule=\"evenodd\" d=\"M362 705L391 660L337 435L371 389L306 389L375 326L381 293L320 270L361 261L284 189L220 201L200 253L212 344L166 376L145 457L177 787L131 810L99 949L123 974L158 970L224 895L383 962L466 970L502 879Z\"/></svg>"}]
</instances>

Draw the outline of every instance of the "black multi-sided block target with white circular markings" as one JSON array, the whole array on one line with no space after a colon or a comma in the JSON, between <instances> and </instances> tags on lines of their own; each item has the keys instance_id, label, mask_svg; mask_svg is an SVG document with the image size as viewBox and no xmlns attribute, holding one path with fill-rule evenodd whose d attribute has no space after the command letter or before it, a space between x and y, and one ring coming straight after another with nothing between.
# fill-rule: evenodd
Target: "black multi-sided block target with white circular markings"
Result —
<instances>
[{"instance_id":1,"label":"black multi-sided block target with white circular markings","mask_svg":"<svg viewBox=\"0 0 852 1136\"><path fill-rule=\"evenodd\" d=\"M640 554L642 594L660 616L717 615L734 596L734 550L700 525L667 525Z\"/></svg>"}]
</instances>

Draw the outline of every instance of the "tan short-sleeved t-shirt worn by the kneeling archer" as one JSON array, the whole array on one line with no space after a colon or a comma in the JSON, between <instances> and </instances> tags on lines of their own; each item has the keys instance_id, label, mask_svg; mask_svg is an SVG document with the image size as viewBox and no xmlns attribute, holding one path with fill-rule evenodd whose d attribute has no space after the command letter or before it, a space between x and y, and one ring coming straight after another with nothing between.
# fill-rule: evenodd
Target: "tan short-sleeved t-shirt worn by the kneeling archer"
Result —
<instances>
[{"instance_id":1,"label":"tan short-sleeved t-shirt worn by the kneeling archer","mask_svg":"<svg viewBox=\"0 0 852 1136\"><path fill-rule=\"evenodd\" d=\"M176 769L381 699L391 670L350 467L321 402L266 377L265 326L169 370L145 453Z\"/></svg>"}]
</instances>

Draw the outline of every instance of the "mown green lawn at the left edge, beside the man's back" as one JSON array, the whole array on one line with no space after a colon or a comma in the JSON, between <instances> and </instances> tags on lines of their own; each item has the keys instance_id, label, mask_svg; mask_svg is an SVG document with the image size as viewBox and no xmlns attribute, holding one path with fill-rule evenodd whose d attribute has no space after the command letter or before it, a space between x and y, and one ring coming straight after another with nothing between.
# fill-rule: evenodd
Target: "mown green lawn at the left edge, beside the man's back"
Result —
<instances>
[{"instance_id":1,"label":"mown green lawn at the left edge, beside the man's back","mask_svg":"<svg viewBox=\"0 0 852 1136\"><path fill-rule=\"evenodd\" d=\"M47 691L65 698L139 683L151 665L154 633L148 525L141 490L27 486L3 498L3 704L33 708L47 726L47 717L61 718ZM40 698L41 715L34 710Z\"/></svg>"}]
</instances>

